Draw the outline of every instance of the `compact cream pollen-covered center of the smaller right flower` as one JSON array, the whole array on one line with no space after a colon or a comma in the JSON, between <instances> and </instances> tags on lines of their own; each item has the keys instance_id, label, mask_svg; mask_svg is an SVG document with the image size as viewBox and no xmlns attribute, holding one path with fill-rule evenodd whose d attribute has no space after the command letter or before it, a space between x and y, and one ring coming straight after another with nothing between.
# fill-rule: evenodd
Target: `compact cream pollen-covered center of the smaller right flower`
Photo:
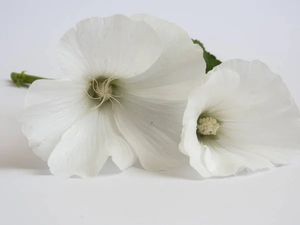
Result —
<instances>
[{"instance_id":1,"label":"compact cream pollen-covered center of the smaller right flower","mask_svg":"<svg viewBox=\"0 0 300 225\"><path fill-rule=\"evenodd\" d=\"M198 119L197 132L202 135L215 135L220 124L212 117L203 117Z\"/></svg>"}]
</instances>

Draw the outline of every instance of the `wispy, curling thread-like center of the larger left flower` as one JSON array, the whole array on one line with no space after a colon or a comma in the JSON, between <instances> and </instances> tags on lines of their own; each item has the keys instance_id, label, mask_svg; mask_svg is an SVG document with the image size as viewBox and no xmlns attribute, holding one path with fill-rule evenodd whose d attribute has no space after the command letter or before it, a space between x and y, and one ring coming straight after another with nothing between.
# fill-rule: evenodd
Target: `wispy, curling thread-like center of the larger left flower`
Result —
<instances>
[{"instance_id":1,"label":"wispy, curling thread-like center of the larger left flower","mask_svg":"<svg viewBox=\"0 0 300 225\"><path fill-rule=\"evenodd\" d=\"M115 88L115 86L111 84L111 81L113 79L114 78L112 77L101 80L97 80L94 78L92 79L90 89L86 91L86 93L90 98L99 100L97 101L96 106L93 108L99 107L107 100L110 100L113 106L112 99L119 103L119 101L115 99L115 97L120 97L121 95L117 96L113 94Z\"/></svg>"}]
</instances>

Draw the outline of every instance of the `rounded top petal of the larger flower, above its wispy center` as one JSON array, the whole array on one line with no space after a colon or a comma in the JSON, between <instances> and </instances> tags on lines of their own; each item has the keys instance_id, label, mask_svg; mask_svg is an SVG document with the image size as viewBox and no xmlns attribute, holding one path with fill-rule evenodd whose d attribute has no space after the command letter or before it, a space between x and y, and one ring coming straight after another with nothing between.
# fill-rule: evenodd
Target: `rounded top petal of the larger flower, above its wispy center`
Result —
<instances>
[{"instance_id":1,"label":"rounded top petal of the larger flower, above its wispy center","mask_svg":"<svg viewBox=\"0 0 300 225\"><path fill-rule=\"evenodd\" d=\"M60 39L58 59L73 79L94 76L134 76L159 57L162 42L144 21L124 15L88 18Z\"/></svg>"}]
</instances>

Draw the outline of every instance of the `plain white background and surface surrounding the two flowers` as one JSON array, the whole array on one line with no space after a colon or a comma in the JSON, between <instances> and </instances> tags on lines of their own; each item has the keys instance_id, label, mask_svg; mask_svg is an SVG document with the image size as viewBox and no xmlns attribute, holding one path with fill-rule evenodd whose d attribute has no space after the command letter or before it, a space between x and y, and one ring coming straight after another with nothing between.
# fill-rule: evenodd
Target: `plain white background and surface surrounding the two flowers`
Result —
<instances>
[{"instance_id":1,"label":"plain white background and surface surrounding the two flowers","mask_svg":"<svg viewBox=\"0 0 300 225\"><path fill-rule=\"evenodd\" d=\"M262 60L300 105L299 11L299 0L0 0L0 224L300 224L298 159L206 180L188 165L120 172L111 161L94 178L54 177L15 119L26 88L8 81L21 70L62 77L55 46L77 21L145 12L179 24L220 60Z\"/></svg>"}]
</instances>

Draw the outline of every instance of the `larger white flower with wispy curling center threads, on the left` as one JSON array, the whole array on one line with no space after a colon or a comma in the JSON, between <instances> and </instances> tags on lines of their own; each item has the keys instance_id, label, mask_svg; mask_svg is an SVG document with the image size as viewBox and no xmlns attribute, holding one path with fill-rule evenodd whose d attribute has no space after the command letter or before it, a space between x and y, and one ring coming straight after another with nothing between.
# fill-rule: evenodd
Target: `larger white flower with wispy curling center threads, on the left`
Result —
<instances>
[{"instance_id":1,"label":"larger white flower with wispy curling center threads, on the left","mask_svg":"<svg viewBox=\"0 0 300 225\"><path fill-rule=\"evenodd\" d=\"M33 82L20 115L33 151L59 176L93 176L107 157L125 169L177 166L186 100L203 51L150 15L89 18L60 39L67 79Z\"/></svg>"}]
</instances>

